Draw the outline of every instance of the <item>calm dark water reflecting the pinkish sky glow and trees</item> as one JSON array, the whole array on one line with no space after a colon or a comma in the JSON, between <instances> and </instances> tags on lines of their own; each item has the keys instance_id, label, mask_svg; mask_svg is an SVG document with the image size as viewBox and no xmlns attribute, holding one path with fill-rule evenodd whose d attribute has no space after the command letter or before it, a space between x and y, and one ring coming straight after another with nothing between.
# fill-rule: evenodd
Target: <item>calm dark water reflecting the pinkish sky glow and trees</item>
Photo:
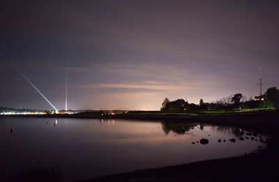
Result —
<instances>
[{"instance_id":1,"label":"calm dark water reflecting the pinkish sky glow and trees","mask_svg":"<svg viewBox=\"0 0 279 182\"><path fill-rule=\"evenodd\" d=\"M263 135L257 135L257 141L243 135L249 139L241 141L241 131L199 123L1 117L0 181L36 167L38 161L45 166L62 162L64 178L73 181L239 156L264 147L259 142ZM197 143L202 138L209 139L209 144ZM236 142L228 141L232 138Z\"/></svg>"}]
</instances>

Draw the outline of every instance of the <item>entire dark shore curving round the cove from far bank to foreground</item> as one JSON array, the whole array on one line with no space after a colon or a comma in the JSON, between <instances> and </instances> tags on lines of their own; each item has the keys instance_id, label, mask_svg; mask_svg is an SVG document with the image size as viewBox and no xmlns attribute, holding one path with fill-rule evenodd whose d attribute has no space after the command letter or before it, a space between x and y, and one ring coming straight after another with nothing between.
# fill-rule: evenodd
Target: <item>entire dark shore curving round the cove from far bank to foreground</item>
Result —
<instances>
[{"instance_id":1,"label":"entire dark shore curving round the cove from far bank to foreground","mask_svg":"<svg viewBox=\"0 0 279 182\"><path fill-rule=\"evenodd\" d=\"M236 126L255 130L271 138L264 149L246 156L220 158L187 164L140 169L122 174L97 176L89 181L279 181L276 166L279 162L279 110L253 114L118 114L92 116L90 114L13 115L19 117L73 118L73 119L135 119L141 121L197 122L221 126Z\"/></svg>"}]
</instances>

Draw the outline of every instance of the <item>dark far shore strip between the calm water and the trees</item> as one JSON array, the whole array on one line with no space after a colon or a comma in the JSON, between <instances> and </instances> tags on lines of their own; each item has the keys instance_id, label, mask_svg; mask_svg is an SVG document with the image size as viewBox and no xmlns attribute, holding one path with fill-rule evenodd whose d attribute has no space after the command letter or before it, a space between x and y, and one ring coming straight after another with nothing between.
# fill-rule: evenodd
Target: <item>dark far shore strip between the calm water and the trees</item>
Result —
<instances>
[{"instance_id":1,"label":"dark far shore strip between the calm water and the trees","mask_svg":"<svg viewBox=\"0 0 279 182\"><path fill-rule=\"evenodd\" d=\"M78 114L18 114L0 115L0 117L38 117L69 119L132 119L140 121L197 122L220 126L236 126L246 130L257 130L266 135L277 135L279 130L279 109L272 111L248 112L238 114L115 114L103 115L95 113Z\"/></svg>"}]
</instances>

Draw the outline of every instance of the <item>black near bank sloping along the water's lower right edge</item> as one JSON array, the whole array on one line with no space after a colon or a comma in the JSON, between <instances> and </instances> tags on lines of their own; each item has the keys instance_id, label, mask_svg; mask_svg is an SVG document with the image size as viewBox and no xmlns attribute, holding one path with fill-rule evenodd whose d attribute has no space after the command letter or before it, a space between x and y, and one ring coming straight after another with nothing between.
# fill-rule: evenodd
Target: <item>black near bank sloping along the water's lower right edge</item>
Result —
<instances>
[{"instance_id":1,"label":"black near bank sloping along the water's lower right edge","mask_svg":"<svg viewBox=\"0 0 279 182\"><path fill-rule=\"evenodd\" d=\"M273 141L275 142L275 141ZM278 141L277 141L278 142ZM204 154L206 155L206 153ZM89 181L278 181L278 149L247 156L100 176ZM85 181L84 181L85 182Z\"/></svg>"}]
</instances>

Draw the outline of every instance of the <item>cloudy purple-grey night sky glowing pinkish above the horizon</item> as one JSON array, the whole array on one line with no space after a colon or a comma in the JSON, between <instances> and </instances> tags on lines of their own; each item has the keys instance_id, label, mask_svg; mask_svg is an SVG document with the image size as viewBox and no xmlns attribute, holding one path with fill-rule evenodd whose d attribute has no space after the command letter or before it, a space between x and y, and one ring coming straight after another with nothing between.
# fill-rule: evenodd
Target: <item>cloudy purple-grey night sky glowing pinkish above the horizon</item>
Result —
<instances>
[{"instance_id":1,"label":"cloudy purple-grey night sky glowing pinkish above the horizon","mask_svg":"<svg viewBox=\"0 0 279 182\"><path fill-rule=\"evenodd\" d=\"M278 1L1 1L0 106L160 109L279 87Z\"/></svg>"}]
</instances>

